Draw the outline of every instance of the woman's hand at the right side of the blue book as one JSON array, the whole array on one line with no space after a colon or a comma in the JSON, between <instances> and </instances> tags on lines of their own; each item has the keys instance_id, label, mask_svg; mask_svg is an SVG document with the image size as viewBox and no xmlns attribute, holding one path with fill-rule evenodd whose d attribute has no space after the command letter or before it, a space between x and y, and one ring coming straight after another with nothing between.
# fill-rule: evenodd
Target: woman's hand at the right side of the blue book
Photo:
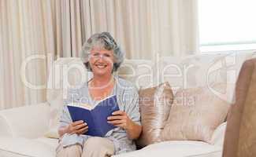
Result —
<instances>
[{"instance_id":1,"label":"woman's hand at the right side of the blue book","mask_svg":"<svg viewBox=\"0 0 256 157\"><path fill-rule=\"evenodd\" d=\"M132 126L132 120L124 111L114 111L112 116L108 117L108 122L113 124L113 126L118 126L124 130L128 130Z\"/></svg>"}]
</instances>

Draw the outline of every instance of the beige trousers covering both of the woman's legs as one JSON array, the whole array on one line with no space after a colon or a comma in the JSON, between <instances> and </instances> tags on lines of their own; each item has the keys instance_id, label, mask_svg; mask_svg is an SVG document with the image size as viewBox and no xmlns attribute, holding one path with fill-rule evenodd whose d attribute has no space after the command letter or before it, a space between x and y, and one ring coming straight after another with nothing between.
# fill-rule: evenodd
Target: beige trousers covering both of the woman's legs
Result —
<instances>
[{"instance_id":1,"label":"beige trousers covering both of the woman's legs","mask_svg":"<svg viewBox=\"0 0 256 157\"><path fill-rule=\"evenodd\" d=\"M113 153L113 142L102 137L90 137L84 142L83 148L80 144L70 145L66 148L59 144L56 150L57 157L108 157Z\"/></svg>"}]
</instances>

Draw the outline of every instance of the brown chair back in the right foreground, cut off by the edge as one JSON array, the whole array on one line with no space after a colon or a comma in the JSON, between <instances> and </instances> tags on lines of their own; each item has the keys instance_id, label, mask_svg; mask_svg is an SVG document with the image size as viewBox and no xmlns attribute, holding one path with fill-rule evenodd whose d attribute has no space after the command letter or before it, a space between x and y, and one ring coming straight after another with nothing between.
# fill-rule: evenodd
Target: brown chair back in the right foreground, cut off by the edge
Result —
<instances>
[{"instance_id":1,"label":"brown chair back in the right foreground, cut off by the edge","mask_svg":"<svg viewBox=\"0 0 256 157\"><path fill-rule=\"evenodd\" d=\"M247 60L236 82L236 103L228 112L223 157L256 155L256 59Z\"/></svg>"}]
</instances>

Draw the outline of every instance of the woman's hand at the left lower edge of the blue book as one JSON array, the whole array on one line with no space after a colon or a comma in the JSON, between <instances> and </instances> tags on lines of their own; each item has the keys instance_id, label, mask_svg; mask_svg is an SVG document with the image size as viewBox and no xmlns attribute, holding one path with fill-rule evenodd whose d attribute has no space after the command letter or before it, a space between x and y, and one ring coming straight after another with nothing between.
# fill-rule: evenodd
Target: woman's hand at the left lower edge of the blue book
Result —
<instances>
[{"instance_id":1,"label":"woman's hand at the left lower edge of the blue book","mask_svg":"<svg viewBox=\"0 0 256 157\"><path fill-rule=\"evenodd\" d=\"M67 128L67 133L76 133L76 134L83 134L88 131L88 126L86 122L83 120L71 122Z\"/></svg>"}]
</instances>

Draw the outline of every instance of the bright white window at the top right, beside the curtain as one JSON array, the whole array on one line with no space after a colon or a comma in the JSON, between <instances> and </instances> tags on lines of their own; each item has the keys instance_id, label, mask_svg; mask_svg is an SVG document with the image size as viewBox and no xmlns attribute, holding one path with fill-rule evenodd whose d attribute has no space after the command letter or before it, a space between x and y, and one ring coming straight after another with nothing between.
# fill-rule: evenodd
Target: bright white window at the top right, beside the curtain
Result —
<instances>
[{"instance_id":1,"label":"bright white window at the top right, beside the curtain","mask_svg":"<svg viewBox=\"0 0 256 157\"><path fill-rule=\"evenodd\" d=\"M202 52L256 49L255 0L198 0Z\"/></svg>"}]
</instances>

